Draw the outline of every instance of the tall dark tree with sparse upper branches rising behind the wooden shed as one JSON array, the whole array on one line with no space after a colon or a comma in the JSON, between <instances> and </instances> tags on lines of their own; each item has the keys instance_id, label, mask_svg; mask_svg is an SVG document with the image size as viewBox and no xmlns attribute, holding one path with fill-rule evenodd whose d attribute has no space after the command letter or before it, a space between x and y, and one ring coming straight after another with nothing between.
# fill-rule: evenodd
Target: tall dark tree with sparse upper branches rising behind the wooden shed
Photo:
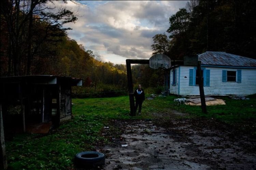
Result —
<instances>
[{"instance_id":1,"label":"tall dark tree with sparse upper branches rising behind the wooden shed","mask_svg":"<svg viewBox=\"0 0 256 170\"><path fill-rule=\"evenodd\" d=\"M38 52L39 46L47 37L63 35L67 29L62 25L76 21L76 16L66 8L50 7L53 1L20 1L1 2L1 21L6 23L9 36L9 70L8 75L30 74L31 61ZM35 24L44 24L44 37L37 38ZM1 25L2 26L2 25ZM41 25L42 26L42 25ZM40 41L34 41L40 40ZM27 61L24 63L23 61ZM26 67L27 66L27 67ZM27 72L25 72L27 71Z\"/></svg>"}]
</instances>

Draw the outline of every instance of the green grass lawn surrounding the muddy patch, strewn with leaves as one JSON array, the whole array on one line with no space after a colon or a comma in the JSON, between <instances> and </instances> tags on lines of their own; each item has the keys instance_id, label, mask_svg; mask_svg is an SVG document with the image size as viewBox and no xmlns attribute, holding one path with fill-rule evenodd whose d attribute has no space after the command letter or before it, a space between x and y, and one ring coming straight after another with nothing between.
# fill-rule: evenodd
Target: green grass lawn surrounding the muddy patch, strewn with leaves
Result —
<instances>
[{"instance_id":1,"label":"green grass lawn surrounding the muddy patch, strewn with leaves","mask_svg":"<svg viewBox=\"0 0 256 170\"><path fill-rule=\"evenodd\" d=\"M6 140L9 169L73 169L74 155L94 150L95 143L108 143L101 130L110 120L155 119L161 112L176 110L189 113L186 119L217 119L234 124L256 136L256 95L250 100L222 97L226 105L208 106L203 114L200 106L181 105L173 102L174 95L145 100L142 114L130 117L129 97L72 99L73 119L49 134L19 134ZM183 117L184 118L184 117Z\"/></svg>"}]
</instances>

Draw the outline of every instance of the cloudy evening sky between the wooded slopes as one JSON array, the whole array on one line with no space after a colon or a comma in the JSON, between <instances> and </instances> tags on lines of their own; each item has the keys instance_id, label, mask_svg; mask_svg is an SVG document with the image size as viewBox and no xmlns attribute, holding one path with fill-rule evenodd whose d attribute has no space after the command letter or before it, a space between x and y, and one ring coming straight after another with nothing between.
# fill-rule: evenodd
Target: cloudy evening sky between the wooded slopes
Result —
<instances>
[{"instance_id":1,"label":"cloudy evening sky between the wooded slopes","mask_svg":"<svg viewBox=\"0 0 256 170\"><path fill-rule=\"evenodd\" d=\"M81 1L87 7L68 1L78 13L76 23L64 27L68 36L97 60L125 64L126 59L149 59L153 36L166 33L171 15L187 1Z\"/></svg>"}]
</instances>

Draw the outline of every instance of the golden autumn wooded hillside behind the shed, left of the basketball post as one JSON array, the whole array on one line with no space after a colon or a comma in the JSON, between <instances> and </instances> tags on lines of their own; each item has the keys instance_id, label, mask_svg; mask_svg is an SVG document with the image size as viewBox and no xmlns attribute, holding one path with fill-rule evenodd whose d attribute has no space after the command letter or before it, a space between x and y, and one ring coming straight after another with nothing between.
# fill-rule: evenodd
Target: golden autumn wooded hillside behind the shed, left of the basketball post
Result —
<instances>
[{"instance_id":1,"label":"golden autumn wooded hillside behind the shed, left of the basketball post","mask_svg":"<svg viewBox=\"0 0 256 170\"><path fill-rule=\"evenodd\" d=\"M71 28L62 28L77 20L75 14L65 8L53 12L46 3L51 2L1 1L0 76L70 76L84 79L75 93L125 91L126 66L96 60L68 37Z\"/></svg>"}]
</instances>

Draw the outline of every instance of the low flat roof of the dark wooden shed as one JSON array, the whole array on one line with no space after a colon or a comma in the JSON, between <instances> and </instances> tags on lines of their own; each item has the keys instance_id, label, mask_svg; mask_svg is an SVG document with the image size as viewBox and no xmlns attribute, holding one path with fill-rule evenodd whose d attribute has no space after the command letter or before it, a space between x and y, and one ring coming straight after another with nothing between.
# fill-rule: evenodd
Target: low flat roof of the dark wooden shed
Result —
<instances>
[{"instance_id":1,"label":"low flat roof of the dark wooden shed","mask_svg":"<svg viewBox=\"0 0 256 170\"><path fill-rule=\"evenodd\" d=\"M30 82L32 84L57 84L68 83L71 86L82 86L82 79L54 76L54 75L28 75L28 76L12 76L1 77L1 82Z\"/></svg>"}]
</instances>

